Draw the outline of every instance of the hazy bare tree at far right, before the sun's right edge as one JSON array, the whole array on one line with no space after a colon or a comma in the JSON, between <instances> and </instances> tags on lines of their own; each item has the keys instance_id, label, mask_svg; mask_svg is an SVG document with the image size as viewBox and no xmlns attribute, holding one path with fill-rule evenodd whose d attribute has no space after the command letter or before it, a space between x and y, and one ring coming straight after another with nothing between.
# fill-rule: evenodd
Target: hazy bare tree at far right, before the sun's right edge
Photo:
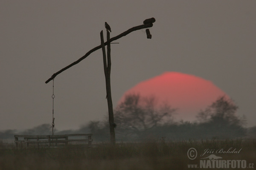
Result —
<instances>
[{"instance_id":1,"label":"hazy bare tree at far right, before the sun's right edge","mask_svg":"<svg viewBox=\"0 0 256 170\"><path fill-rule=\"evenodd\" d=\"M199 129L205 137L219 139L236 138L244 136L245 118L236 114L238 106L225 96L219 97L204 111L198 114Z\"/></svg>"}]
</instances>

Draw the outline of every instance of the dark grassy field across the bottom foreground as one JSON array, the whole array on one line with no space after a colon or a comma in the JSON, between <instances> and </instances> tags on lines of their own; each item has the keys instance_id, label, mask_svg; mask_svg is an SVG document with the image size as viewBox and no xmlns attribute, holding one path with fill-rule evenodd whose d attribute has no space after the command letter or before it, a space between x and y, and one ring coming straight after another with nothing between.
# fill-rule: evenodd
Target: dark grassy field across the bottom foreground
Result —
<instances>
[{"instance_id":1,"label":"dark grassy field across the bottom foreground","mask_svg":"<svg viewBox=\"0 0 256 170\"><path fill-rule=\"evenodd\" d=\"M190 160L189 148L195 148L198 156ZM223 159L246 160L256 164L256 140L184 140L149 141L140 143L69 144L60 147L16 148L13 144L0 144L0 170L165 170L189 169L188 164L198 164L209 156L204 150L224 150L232 147L239 153L216 153Z\"/></svg>"}]
</instances>

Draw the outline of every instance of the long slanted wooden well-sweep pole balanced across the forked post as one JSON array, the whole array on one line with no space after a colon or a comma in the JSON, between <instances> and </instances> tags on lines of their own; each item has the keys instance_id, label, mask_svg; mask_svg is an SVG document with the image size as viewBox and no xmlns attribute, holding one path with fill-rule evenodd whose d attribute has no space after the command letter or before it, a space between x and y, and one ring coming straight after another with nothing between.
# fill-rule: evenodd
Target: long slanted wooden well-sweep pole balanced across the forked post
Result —
<instances>
[{"instance_id":1,"label":"long slanted wooden well-sweep pole balanced across the forked post","mask_svg":"<svg viewBox=\"0 0 256 170\"><path fill-rule=\"evenodd\" d=\"M143 28L150 28L152 27L153 24L152 23L148 23L148 24L143 24L143 25L140 25L140 26L135 26L135 27L132 27L130 29L128 29L127 31L117 35L116 37L112 37L109 41L106 41L104 43L104 45L108 45L109 43L111 43L112 41L115 41L115 40L118 40L119 38L121 37L124 37L126 36L127 34L130 34L131 32L133 31L137 31L137 30L140 30L140 29L143 29ZM48 83L49 81L51 81L52 79L54 79L58 74L61 74L63 71L67 70L68 68L72 67L73 65L76 65L78 64L79 62L81 62L83 59L85 59L86 57L88 57L91 53L93 53L94 51L96 50L99 50L100 48L102 48L102 45L99 45L97 47L94 47L93 49L91 49L90 51L88 51L86 54L84 54L83 57L79 58L78 60L76 60L75 62L71 63L70 65L62 68L60 71L52 74L52 77L50 77L49 79L47 79L47 81L45 83Z\"/></svg>"}]
</instances>

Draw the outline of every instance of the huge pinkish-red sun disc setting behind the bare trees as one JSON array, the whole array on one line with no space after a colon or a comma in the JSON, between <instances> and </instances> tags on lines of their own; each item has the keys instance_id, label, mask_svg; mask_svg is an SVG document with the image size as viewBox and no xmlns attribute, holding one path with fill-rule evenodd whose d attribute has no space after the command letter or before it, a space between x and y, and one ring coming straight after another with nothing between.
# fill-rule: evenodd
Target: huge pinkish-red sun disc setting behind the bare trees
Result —
<instances>
[{"instance_id":1,"label":"huge pinkish-red sun disc setting behind the bare trees","mask_svg":"<svg viewBox=\"0 0 256 170\"><path fill-rule=\"evenodd\" d=\"M122 96L127 94L155 96L158 103L167 102L177 108L177 120L193 121L201 109L211 105L219 96L227 96L211 81L190 74L165 72L138 83ZM227 96L228 97L228 96Z\"/></svg>"}]
</instances>

